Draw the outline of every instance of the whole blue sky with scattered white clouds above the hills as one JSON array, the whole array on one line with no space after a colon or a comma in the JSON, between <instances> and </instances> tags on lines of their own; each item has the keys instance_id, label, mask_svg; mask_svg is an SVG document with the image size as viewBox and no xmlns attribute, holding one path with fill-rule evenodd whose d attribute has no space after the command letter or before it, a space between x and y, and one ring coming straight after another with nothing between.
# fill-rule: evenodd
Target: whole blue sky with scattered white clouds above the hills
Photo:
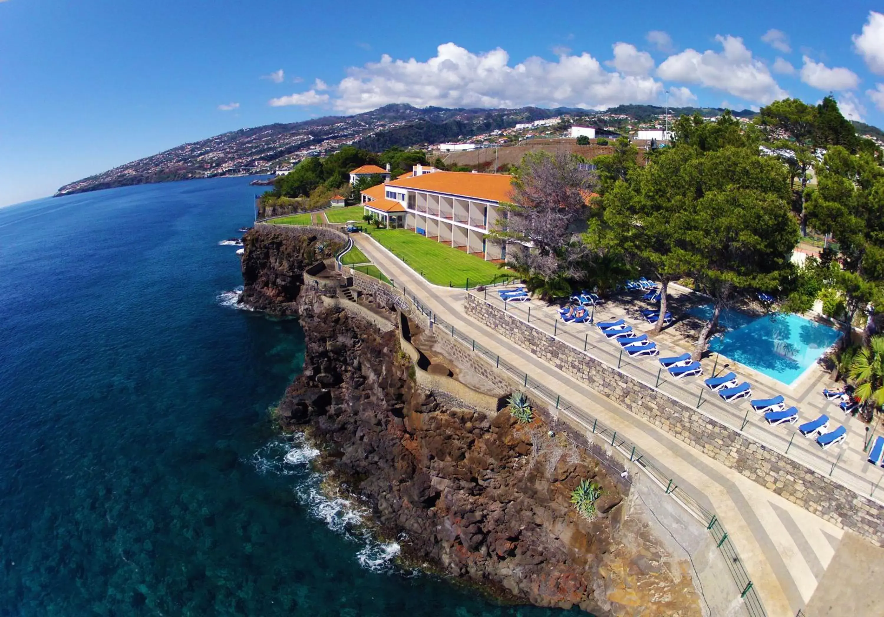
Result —
<instances>
[{"instance_id":1,"label":"whole blue sky with scattered white clouds above the hills","mask_svg":"<svg viewBox=\"0 0 884 617\"><path fill-rule=\"evenodd\" d=\"M186 141L387 102L601 108L668 89L743 109L831 91L884 126L884 7L661 7L0 0L0 206Z\"/></svg>"}]
</instances>

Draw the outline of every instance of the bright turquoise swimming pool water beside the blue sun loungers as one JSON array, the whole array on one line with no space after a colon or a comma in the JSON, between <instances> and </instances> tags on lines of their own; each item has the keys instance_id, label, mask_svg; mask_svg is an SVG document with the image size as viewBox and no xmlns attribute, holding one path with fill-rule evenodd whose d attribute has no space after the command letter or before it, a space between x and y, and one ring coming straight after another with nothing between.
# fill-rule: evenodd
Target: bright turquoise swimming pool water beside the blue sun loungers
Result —
<instances>
[{"instance_id":1,"label":"bright turquoise swimming pool water beside the blue sun loungers","mask_svg":"<svg viewBox=\"0 0 884 617\"><path fill-rule=\"evenodd\" d=\"M712 318L713 305L697 306L689 312L708 320ZM751 317L726 309L721 312L719 321L725 332L713 338L710 350L787 386L841 337L834 328L793 313Z\"/></svg>"}]
</instances>

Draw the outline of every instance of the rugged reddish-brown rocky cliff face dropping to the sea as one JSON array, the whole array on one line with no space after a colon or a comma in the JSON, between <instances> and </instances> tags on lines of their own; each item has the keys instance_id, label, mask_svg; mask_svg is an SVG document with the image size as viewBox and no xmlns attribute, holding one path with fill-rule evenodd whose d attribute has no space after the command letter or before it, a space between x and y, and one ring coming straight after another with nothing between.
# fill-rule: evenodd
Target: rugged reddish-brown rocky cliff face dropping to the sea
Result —
<instances>
[{"instance_id":1,"label":"rugged reddish-brown rocky cliff face dropping to the sea","mask_svg":"<svg viewBox=\"0 0 884 617\"><path fill-rule=\"evenodd\" d=\"M550 434L558 427L543 410L522 425L504 403L481 408L419 385L385 298L362 293L362 308L347 310L353 303L305 286L305 269L336 250L329 238L253 229L244 241L240 301L297 315L305 331L304 370L279 403L280 427L322 445L322 469L370 503L381 535L405 538L406 561L508 601L599 616L702 614L687 564L597 459ZM592 520L570 503L583 479L602 488Z\"/></svg>"}]
</instances>

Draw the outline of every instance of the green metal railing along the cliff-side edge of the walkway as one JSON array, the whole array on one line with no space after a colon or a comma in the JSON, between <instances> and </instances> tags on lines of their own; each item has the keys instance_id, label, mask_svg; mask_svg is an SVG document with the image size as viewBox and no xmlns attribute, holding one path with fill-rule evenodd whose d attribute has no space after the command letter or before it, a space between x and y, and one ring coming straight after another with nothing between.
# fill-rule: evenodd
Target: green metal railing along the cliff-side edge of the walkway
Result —
<instances>
[{"instance_id":1,"label":"green metal railing along the cliff-side edge of the walkway","mask_svg":"<svg viewBox=\"0 0 884 617\"><path fill-rule=\"evenodd\" d=\"M727 563L728 571L734 579L736 593L743 599L743 607L745 608L746 613L750 617L766 617L767 613L761 602L761 598L758 597L758 591L756 591L749 573L743 566L743 561L740 558L739 553L737 553L735 546L728 536L728 532L724 529L718 516L714 511L700 505L700 503L691 497L689 493L686 493L679 485L679 480L674 477L674 474L660 469L657 463L653 462L651 458L645 455L635 443L629 441L623 433L618 433L610 426L607 426L604 422L592 416L587 410L569 403L568 400L553 392L552 389L543 385L539 380L532 378L530 374L522 372L518 368L509 364L505 359L501 358L499 354L485 348L481 343L477 342L476 339L457 330L456 327L447 323L445 320L439 319L438 315L433 312L429 306L424 305L423 302L421 302L414 293L408 290L407 287L401 285L400 287L397 287L394 281L391 281L390 284L394 289L400 291L405 297L405 300L409 302L417 312L422 313L428 318L428 320L430 320L431 327L434 330L438 329L442 333L451 335L454 340L461 342L469 348L469 350L484 357L490 364L494 365L500 371L506 372L516 382L521 383L522 388L526 392L530 392L543 399L550 405L551 409L555 410L556 413L567 415L574 418L581 425L589 427L587 429L586 437L587 440L591 441L591 446L595 445L603 447L606 450L610 449L611 451L616 451L622 456L624 462L629 462L624 463L627 470L629 470L629 465L634 465L636 468L644 470L648 475L648 478L651 478L654 484L658 485L665 494L677 501L682 508L697 519L698 522L704 524L706 530L709 530L722 558ZM579 444L575 445L579 446ZM588 449L588 451L591 455L598 457L598 455L592 452L591 449Z\"/></svg>"}]
</instances>

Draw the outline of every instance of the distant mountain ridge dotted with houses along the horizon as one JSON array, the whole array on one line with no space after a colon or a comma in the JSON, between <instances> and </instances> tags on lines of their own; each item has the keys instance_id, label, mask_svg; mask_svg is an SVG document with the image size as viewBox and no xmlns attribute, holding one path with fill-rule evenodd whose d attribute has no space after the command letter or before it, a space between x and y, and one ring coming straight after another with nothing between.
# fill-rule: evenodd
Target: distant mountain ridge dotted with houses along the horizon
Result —
<instances>
[{"instance_id":1,"label":"distant mountain ridge dotted with houses along the horizon","mask_svg":"<svg viewBox=\"0 0 884 617\"><path fill-rule=\"evenodd\" d=\"M644 122L658 117L664 109L655 105L620 105L605 111L567 107L447 109L391 103L353 116L324 116L224 132L65 184L58 189L56 197L132 184L270 172L278 167L280 159L330 154L348 143L379 152L388 147L433 145L474 137L561 115L582 118L586 122L591 122L593 117L600 121L612 115L622 115ZM695 111L712 117L720 115L724 109L669 109L673 117ZM756 112L743 109L732 113L737 117L752 117Z\"/></svg>"}]
</instances>

